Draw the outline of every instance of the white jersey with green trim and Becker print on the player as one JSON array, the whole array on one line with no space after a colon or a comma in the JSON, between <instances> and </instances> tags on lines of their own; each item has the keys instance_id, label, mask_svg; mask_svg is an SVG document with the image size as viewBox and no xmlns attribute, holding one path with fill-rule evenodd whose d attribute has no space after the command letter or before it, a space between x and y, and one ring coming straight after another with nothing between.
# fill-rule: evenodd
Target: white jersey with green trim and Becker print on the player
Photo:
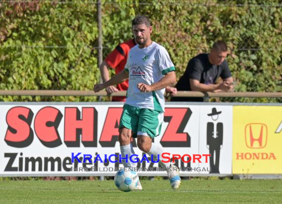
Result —
<instances>
[{"instance_id":1,"label":"white jersey with green trim and Becker print on the player","mask_svg":"<svg viewBox=\"0 0 282 204\"><path fill-rule=\"evenodd\" d=\"M165 48L155 42L142 49L136 45L129 52L125 70L129 71L129 88L125 103L163 112L165 89L144 93L137 85L139 83L151 85L160 81L166 73L175 71Z\"/></svg>"}]
</instances>

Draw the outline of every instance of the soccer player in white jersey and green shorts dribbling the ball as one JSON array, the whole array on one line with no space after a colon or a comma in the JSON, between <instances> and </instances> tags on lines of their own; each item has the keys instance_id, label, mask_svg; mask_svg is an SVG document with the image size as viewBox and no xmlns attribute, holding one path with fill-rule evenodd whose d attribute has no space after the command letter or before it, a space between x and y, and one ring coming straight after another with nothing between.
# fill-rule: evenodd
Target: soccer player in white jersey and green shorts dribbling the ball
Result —
<instances>
[{"instance_id":1,"label":"soccer player in white jersey and green shorts dribbling the ball","mask_svg":"<svg viewBox=\"0 0 282 204\"><path fill-rule=\"evenodd\" d=\"M94 92L119 84L129 78L127 99L119 125L121 154L130 157L134 153L131 137L137 138L138 148L144 153L161 155L163 150L152 139L160 134L164 117L165 87L176 82L175 67L164 47L150 38L152 26L146 16L136 16L132 20L132 30L138 45L129 52L125 69L103 84L94 85ZM162 163L168 171L172 189L181 183L175 165ZM130 160L125 167L137 167ZM139 182L138 190L141 190Z\"/></svg>"}]
</instances>

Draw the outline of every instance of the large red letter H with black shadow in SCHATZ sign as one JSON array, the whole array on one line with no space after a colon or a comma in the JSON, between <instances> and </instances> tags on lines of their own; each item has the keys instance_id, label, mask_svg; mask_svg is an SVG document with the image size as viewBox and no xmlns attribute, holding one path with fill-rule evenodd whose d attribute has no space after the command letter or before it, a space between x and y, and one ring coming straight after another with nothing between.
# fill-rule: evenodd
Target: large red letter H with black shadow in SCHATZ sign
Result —
<instances>
[{"instance_id":1,"label":"large red letter H with black shadow in SCHATZ sign","mask_svg":"<svg viewBox=\"0 0 282 204\"><path fill-rule=\"evenodd\" d=\"M82 119L77 107L65 108L64 141L67 147L79 147L80 135L85 147L97 147L97 111L94 107L82 108Z\"/></svg>"}]
</instances>

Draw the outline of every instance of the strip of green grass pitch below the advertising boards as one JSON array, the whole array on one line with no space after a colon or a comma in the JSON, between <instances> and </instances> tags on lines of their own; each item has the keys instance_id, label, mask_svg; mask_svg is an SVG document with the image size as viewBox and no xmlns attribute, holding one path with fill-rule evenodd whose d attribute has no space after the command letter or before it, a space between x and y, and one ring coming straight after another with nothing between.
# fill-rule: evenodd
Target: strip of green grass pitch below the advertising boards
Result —
<instances>
[{"instance_id":1,"label":"strip of green grass pitch below the advertising boards","mask_svg":"<svg viewBox=\"0 0 282 204\"><path fill-rule=\"evenodd\" d=\"M0 181L0 204L9 203L282 203L282 180L141 180L144 190L124 193L110 181Z\"/></svg>"}]
</instances>

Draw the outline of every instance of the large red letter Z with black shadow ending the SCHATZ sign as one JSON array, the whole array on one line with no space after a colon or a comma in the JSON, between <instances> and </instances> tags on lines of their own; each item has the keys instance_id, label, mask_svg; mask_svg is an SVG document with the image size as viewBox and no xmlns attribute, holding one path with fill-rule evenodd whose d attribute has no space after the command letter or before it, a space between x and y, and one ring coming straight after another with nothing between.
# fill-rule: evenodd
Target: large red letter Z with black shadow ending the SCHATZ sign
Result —
<instances>
[{"instance_id":1,"label":"large red letter Z with black shadow ending the SCHATZ sign","mask_svg":"<svg viewBox=\"0 0 282 204\"><path fill-rule=\"evenodd\" d=\"M191 114L190 108L166 108L164 121L169 124L160 141L163 147L190 147L190 136L184 128Z\"/></svg>"}]
</instances>

